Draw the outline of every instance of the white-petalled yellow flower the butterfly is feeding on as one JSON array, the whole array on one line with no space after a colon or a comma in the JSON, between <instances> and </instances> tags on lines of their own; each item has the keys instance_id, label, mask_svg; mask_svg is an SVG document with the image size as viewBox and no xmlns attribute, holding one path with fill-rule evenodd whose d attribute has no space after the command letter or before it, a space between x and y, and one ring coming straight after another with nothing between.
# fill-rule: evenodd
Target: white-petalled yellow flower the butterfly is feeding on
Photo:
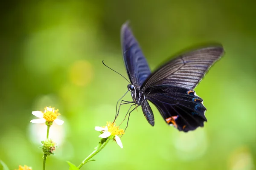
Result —
<instances>
[{"instance_id":1,"label":"white-petalled yellow flower the butterfly is feeding on","mask_svg":"<svg viewBox=\"0 0 256 170\"><path fill-rule=\"evenodd\" d=\"M102 134L99 135L100 138L113 139L121 148L123 148L121 139L118 135L125 134L125 131L119 129L119 126L116 126L116 123L107 122L107 126L96 126L95 130L102 132Z\"/></svg>"}]
</instances>

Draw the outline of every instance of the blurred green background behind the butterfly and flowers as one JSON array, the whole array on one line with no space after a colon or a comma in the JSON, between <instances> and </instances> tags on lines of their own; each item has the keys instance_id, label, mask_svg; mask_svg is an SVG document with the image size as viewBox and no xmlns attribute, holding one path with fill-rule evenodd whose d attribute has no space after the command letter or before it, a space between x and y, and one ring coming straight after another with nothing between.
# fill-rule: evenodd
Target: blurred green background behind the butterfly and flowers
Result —
<instances>
[{"instance_id":1,"label":"blurred green background behind the butterfly and flowers","mask_svg":"<svg viewBox=\"0 0 256 170\"><path fill-rule=\"evenodd\" d=\"M154 70L178 51L218 42L226 51L195 89L208 122L183 133L169 127L151 104L155 126L142 110L131 114L122 137L81 169L253 170L256 166L256 1L40 0L0 5L0 159L10 168L42 168L38 149L45 125L32 111L55 106L62 126L47 170L68 169L99 142L94 126L113 121L127 91L120 46L126 20ZM128 94L125 99L131 100ZM121 108L119 121L128 106Z\"/></svg>"}]
</instances>

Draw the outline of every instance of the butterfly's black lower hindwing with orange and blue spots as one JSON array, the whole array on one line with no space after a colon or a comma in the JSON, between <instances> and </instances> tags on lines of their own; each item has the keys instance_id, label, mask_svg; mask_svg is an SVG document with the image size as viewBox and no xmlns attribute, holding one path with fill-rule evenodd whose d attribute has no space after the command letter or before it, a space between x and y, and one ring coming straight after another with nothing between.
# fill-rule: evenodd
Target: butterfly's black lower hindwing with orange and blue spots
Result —
<instances>
[{"instance_id":1,"label":"butterfly's black lower hindwing with orange and blue spots","mask_svg":"<svg viewBox=\"0 0 256 170\"><path fill-rule=\"evenodd\" d=\"M178 130L187 132L207 121L203 99L194 91L175 86L158 86L146 91L146 99L160 111L163 119Z\"/></svg>"}]
</instances>

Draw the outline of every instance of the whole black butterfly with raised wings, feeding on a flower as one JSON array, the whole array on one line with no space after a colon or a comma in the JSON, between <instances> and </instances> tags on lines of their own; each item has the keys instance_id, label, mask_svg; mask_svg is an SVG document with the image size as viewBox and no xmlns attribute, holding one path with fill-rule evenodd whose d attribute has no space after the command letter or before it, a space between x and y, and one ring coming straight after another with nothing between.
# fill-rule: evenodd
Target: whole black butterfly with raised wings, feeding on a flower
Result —
<instances>
[{"instance_id":1,"label":"whole black butterfly with raised wings, feeding on a flower","mask_svg":"<svg viewBox=\"0 0 256 170\"><path fill-rule=\"evenodd\" d=\"M181 54L151 73L128 23L122 25L121 41L125 68L131 80L128 90L133 102L130 103L141 105L148 123L154 126L149 100L163 119L178 130L187 132L203 127L207 121L206 108L193 89L221 58L223 48L207 47Z\"/></svg>"}]
</instances>

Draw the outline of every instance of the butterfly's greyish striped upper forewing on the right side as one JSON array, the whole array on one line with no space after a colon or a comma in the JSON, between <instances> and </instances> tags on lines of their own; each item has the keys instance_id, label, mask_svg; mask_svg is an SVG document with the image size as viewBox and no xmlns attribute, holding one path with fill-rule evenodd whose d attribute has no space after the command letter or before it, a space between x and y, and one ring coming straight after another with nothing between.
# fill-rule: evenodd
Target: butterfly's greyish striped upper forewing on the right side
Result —
<instances>
[{"instance_id":1,"label":"butterfly's greyish striped upper forewing on the right side","mask_svg":"<svg viewBox=\"0 0 256 170\"><path fill-rule=\"evenodd\" d=\"M182 54L152 73L142 88L171 85L192 90L223 53L222 47L207 47Z\"/></svg>"}]
</instances>

